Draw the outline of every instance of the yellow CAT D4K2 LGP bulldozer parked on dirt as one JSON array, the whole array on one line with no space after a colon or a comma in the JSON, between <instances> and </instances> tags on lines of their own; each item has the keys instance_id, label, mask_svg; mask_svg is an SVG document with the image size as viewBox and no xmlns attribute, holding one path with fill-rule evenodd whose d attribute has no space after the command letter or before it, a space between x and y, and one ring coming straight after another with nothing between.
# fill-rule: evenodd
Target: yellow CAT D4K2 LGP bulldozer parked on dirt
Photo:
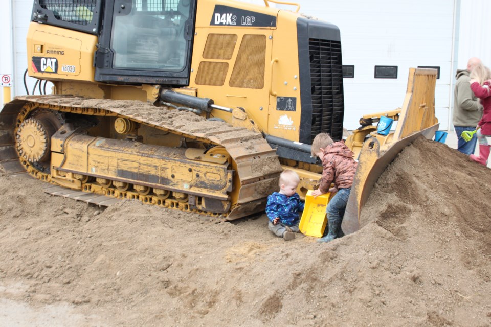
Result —
<instances>
[{"instance_id":1,"label":"yellow CAT D4K2 LGP bulldozer parked on dirt","mask_svg":"<svg viewBox=\"0 0 491 327\"><path fill-rule=\"evenodd\" d=\"M4 106L0 165L91 203L138 199L228 220L262 211L285 168L304 197L322 173L312 139L342 139L344 95L339 29L299 8L34 1L28 73L52 92ZM361 207L393 157L438 128L435 80L412 69L403 107L367 115L346 140L359 169L345 233L363 226ZM395 132L376 133L382 115L398 120Z\"/></svg>"}]
</instances>

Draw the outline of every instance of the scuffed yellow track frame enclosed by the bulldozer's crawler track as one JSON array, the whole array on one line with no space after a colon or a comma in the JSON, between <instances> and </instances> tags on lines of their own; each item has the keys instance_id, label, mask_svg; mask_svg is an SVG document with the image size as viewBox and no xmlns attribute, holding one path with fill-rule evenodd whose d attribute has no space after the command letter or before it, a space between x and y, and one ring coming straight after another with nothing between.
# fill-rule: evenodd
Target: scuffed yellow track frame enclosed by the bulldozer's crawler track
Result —
<instances>
[{"instance_id":1,"label":"scuffed yellow track frame enclosed by the bulldozer's crawler track","mask_svg":"<svg viewBox=\"0 0 491 327\"><path fill-rule=\"evenodd\" d=\"M51 151L51 180L59 184L64 180L72 183L73 174L90 175L106 183L112 181L114 188L110 195L119 198L139 198L142 192L138 190L153 188L154 192L159 190L158 195L186 194L191 197L191 201L188 200L190 209L204 210L213 203L214 212L226 213L230 207L228 192L232 191L232 171L228 169L229 158L225 154L198 161L187 158L186 152L193 149L69 134L65 129L52 137ZM136 192L128 191L130 184L140 188L136 188ZM92 187L90 184L82 186L80 181L68 185L77 189ZM149 197L147 201L152 199ZM168 207L176 205L175 201L161 196L156 196L153 201L153 204ZM206 205L202 205L205 202Z\"/></svg>"}]
</instances>

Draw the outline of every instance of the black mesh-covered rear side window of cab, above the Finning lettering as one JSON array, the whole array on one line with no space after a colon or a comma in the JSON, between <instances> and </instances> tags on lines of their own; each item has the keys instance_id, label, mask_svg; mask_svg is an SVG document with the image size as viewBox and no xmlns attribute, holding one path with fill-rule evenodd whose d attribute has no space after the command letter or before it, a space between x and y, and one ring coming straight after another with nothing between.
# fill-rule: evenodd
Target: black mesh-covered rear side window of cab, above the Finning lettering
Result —
<instances>
[{"instance_id":1,"label":"black mesh-covered rear side window of cab, above the Finning lettering","mask_svg":"<svg viewBox=\"0 0 491 327\"><path fill-rule=\"evenodd\" d=\"M58 20L87 25L92 21L96 0L39 0L39 5L51 10Z\"/></svg>"}]
</instances>

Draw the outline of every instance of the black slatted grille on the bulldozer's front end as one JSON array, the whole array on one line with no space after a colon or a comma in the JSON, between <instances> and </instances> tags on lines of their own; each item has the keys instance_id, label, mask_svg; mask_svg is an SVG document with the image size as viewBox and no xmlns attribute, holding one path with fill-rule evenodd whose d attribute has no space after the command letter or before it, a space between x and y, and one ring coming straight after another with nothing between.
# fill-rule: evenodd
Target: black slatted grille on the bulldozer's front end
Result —
<instances>
[{"instance_id":1,"label":"black slatted grille on the bulldozer's front end","mask_svg":"<svg viewBox=\"0 0 491 327\"><path fill-rule=\"evenodd\" d=\"M343 137L343 63L341 42L309 39L312 125L310 141L322 132Z\"/></svg>"}]
</instances>

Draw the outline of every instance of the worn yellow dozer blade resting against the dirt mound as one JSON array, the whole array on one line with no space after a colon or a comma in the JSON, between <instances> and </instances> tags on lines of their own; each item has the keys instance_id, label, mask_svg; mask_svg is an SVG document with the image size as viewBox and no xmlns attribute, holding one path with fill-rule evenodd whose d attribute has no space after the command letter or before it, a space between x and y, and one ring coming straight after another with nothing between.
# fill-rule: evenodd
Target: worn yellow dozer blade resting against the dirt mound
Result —
<instances>
[{"instance_id":1,"label":"worn yellow dozer blade resting against the dirt mound","mask_svg":"<svg viewBox=\"0 0 491 327\"><path fill-rule=\"evenodd\" d=\"M435 84L435 69L410 68L406 98L395 132L384 137L373 132L372 137L364 142L341 225L345 234L355 232L369 223L360 215L362 207L378 177L395 156L420 135L431 139L438 130L434 105Z\"/></svg>"}]
</instances>

